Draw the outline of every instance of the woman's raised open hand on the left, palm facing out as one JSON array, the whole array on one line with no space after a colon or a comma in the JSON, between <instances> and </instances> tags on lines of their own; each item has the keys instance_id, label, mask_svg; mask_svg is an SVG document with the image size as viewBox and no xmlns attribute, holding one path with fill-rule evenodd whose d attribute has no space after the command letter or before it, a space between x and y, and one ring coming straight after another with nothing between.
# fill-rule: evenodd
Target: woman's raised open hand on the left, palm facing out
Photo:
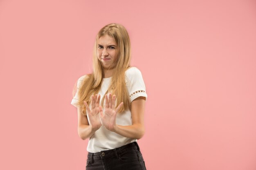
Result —
<instances>
[{"instance_id":1,"label":"woman's raised open hand on the left, palm facing out","mask_svg":"<svg viewBox=\"0 0 256 170\"><path fill-rule=\"evenodd\" d=\"M92 95L91 98L91 109L85 101L84 104L90 117L89 119L92 130L96 131L101 127L101 120L99 118L99 101L101 99L101 95Z\"/></svg>"}]
</instances>

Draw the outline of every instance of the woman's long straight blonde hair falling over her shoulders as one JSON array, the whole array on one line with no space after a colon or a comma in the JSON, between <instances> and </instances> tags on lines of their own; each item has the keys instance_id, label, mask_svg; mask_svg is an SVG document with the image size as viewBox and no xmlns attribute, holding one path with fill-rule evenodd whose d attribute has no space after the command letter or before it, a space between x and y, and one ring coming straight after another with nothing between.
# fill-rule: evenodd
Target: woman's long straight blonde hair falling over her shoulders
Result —
<instances>
[{"instance_id":1,"label":"woman's long straight blonde hair falling over her shoulders","mask_svg":"<svg viewBox=\"0 0 256 170\"><path fill-rule=\"evenodd\" d=\"M106 91L105 95L109 92L111 92L112 95L116 95L117 106L121 102L124 102L123 106L119 110L119 113L126 109L130 109L130 97L128 95L125 82L125 71L130 67L130 38L124 26L121 24L112 23L104 26L97 34L93 50L93 72L88 74L79 86L79 101L77 102L77 105L82 108L83 114L86 114L86 108L83 102L86 101L88 105L90 104L91 95L95 95L99 92L101 83L103 81L104 72L101 66L101 62L97 57L98 41L99 38L103 35L109 35L110 37L114 38L118 49L117 61L112 68L112 79L108 91ZM76 88L76 85L74 88ZM101 96L103 97L101 100L102 107L105 95Z\"/></svg>"}]
</instances>

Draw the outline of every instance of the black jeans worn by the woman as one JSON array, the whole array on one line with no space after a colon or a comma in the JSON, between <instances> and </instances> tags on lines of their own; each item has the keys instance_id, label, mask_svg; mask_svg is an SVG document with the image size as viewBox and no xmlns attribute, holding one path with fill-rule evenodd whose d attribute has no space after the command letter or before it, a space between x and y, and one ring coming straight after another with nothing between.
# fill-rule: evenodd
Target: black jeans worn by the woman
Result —
<instances>
[{"instance_id":1,"label":"black jeans worn by the woman","mask_svg":"<svg viewBox=\"0 0 256 170\"><path fill-rule=\"evenodd\" d=\"M97 153L88 152L86 170L146 170L137 142Z\"/></svg>"}]
</instances>

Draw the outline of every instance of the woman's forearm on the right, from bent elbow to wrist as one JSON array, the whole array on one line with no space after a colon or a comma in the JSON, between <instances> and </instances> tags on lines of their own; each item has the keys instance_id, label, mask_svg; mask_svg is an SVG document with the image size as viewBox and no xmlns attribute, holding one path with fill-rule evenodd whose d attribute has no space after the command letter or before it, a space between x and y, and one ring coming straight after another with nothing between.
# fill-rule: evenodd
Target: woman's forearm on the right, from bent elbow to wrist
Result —
<instances>
[{"instance_id":1,"label":"woman's forearm on the right, from bent elbow to wrist","mask_svg":"<svg viewBox=\"0 0 256 170\"><path fill-rule=\"evenodd\" d=\"M111 131L124 137L141 139L144 135L145 129L141 124L133 124L130 126L116 125Z\"/></svg>"}]
</instances>

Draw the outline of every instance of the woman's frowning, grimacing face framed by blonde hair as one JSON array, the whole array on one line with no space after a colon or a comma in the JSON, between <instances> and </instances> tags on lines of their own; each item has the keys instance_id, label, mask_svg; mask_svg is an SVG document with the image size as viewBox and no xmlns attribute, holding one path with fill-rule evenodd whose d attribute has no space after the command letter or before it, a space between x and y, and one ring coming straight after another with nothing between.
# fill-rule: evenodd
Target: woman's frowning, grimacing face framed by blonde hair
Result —
<instances>
[{"instance_id":1,"label":"woman's frowning, grimacing face framed by blonde hair","mask_svg":"<svg viewBox=\"0 0 256 170\"><path fill-rule=\"evenodd\" d=\"M117 44L114 38L109 35L103 35L99 38L97 56L103 68L109 69L115 64L117 53Z\"/></svg>"}]
</instances>

